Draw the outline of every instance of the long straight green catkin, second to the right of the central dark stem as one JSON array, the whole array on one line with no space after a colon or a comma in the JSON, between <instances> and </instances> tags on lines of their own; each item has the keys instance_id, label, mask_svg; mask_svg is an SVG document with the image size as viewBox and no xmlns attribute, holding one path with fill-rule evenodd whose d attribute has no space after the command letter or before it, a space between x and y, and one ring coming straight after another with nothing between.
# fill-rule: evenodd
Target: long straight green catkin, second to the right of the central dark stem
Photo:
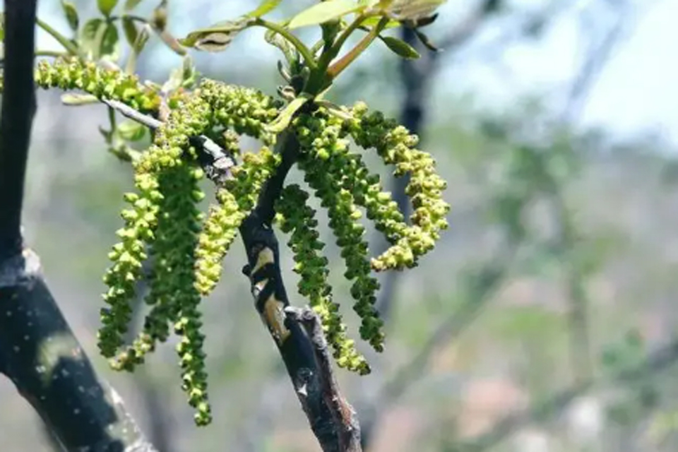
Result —
<instances>
[{"instance_id":1,"label":"long straight green catkin, second to the right of the central dark stem","mask_svg":"<svg viewBox=\"0 0 678 452\"><path fill-rule=\"evenodd\" d=\"M360 336L381 352L383 321L374 307L379 283L370 275L367 242L362 238L365 228L358 221L361 215L352 194L343 189L340 180L331 177L337 168L344 165L347 153L347 141L340 138L341 124L318 112L314 116L300 115L295 121L295 128L301 150L299 168L321 199L321 206L328 209L329 225L347 268L344 276L354 280L351 296L356 301L353 309L362 319Z\"/></svg>"}]
</instances>

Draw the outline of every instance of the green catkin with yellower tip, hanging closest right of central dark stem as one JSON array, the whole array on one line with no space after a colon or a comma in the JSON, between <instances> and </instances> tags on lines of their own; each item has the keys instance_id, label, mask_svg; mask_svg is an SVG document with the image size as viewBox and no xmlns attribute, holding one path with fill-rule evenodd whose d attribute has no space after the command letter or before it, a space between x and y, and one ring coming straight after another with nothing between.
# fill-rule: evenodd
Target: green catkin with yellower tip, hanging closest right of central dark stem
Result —
<instances>
[{"instance_id":1,"label":"green catkin with yellower tip, hanging closest right of central dark stem","mask_svg":"<svg viewBox=\"0 0 678 452\"><path fill-rule=\"evenodd\" d=\"M332 301L328 283L328 260L319 251L325 244L319 240L315 210L307 205L309 195L298 185L285 187L276 204L276 220L283 232L290 234L290 246L295 256L295 273L300 277L299 294L309 298L311 307L320 316L328 343L339 367L359 374L369 374L369 365L355 349L355 342L346 337L339 306Z\"/></svg>"}]
</instances>

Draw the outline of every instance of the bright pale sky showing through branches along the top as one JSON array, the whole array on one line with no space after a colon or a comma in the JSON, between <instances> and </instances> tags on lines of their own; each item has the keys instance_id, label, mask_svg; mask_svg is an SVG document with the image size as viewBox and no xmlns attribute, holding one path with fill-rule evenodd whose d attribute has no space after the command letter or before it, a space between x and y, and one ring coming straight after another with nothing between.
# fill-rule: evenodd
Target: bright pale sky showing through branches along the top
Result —
<instances>
[{"instance_id":1,"label":"bright pale sky showing through branches along the top","mask_svg":"<svg viewBox=\"0 0 678 452\"><path fill-rule=\"evenodd\" d=\"M610 4L613 2L608 0ZM634 3L634 11L628 15L624 40L615 47L614 54L593 86L579 123L582 126L602 126L618 138L653 133L678 145L678 59L674 58L675 51L670 49L674 42L678 42L678 27L675 24L678 0L631 2ZM309 2L299 2L302 3ZM521 8L540 8L547 3L540 0L509 1L509 4ZM144 4L155 6L153 1ZM474 4L461 0L449 1L441 13L463 18L464 12L469 11ZM174 10L173 16L182 18L171 21L172 31L177 36L184 35L196 26L236 17L250 8L246 2L235 0L217 2L206 8L206 11L193 2L174 1L170 5ZM589 14L594 15L595 26L605 28L606 20L601 20L607 14L605 6L594 9L590 8L591 5L592 0L577 1L576 6L562 15L537 44L511 45L509 51L489 60L473 60L463 65L448 64L448 69L439 78L439 89L474 93L475 103L487 109L509 107L525 95L542 94L548 98L549 93L563 93L563 84L571 81L581 61L578 57L585 49L586 42L583 42L581 34L581 12L589 11ZM196 14L193 6L203 14ZM40 11L41 16L52 20L52 23L62 21L57 1L41 2ZM183 20L187 16L191 20ZM208 19L205 20L205 17ZM196 23L191 23L194 21ZM432 31L432 35L444 32L445 24L434 24L437 29ZM505 29L505 25L487 25L480 35L480 42L482 39L492 42L500 30ZM597 35L597 32L593 35ZM261 38L255 33L238 39L240 42L235 42L229 49L235 59L261 60L270 58L275 52L266 44L261 44ZM40 32L38 42L43 49L58 48L44 32ZM260 49L253 52L251 46L261 46L261 52ZM469 54L472 52L470 50ZM167 53L167 57L170 56ZM501 58L501 64L496 64L497 58ZM557 107L558 101L553 99L554 107Z\"/></svg>"}]
</instances>

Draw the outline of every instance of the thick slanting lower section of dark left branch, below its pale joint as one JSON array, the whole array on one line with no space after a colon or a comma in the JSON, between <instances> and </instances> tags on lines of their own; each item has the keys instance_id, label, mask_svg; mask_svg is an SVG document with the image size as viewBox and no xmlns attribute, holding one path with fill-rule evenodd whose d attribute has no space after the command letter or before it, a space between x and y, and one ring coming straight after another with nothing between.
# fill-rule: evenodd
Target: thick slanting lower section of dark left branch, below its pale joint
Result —
<instances>
[{"instance_id":1,"label":"thick slanting lower section of dark left branch, below its pale joint","mask_svg":"<svg viewBox=\"0 0 678 452\"><path fill-rule=\"evenodd\" d=\"M95 374L30 249L0 261L0 300L1 370L66 451L155 451Z\"/></svg>"}]
</instances>

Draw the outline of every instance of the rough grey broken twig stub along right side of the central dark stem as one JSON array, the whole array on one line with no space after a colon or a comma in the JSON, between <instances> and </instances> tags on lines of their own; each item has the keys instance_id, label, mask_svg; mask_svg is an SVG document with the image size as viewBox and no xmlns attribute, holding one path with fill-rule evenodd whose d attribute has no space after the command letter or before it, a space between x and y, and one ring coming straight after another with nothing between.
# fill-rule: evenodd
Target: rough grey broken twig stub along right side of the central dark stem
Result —
<instances>
[{"instance_id":1,"label":"rough grey broken twig stub along right side of the central dark stem","mask_svg":"<svg viewBox=\"0 0 678 452\"><path fill-rule=\"evenodd\" d=\"M327 341L323 333L321 321L315 311L309 307L287 307L285 312L292 319L302 323L311 338L314 347L316 362L320 370L321 390L325 403L330 407L335 424L341 428L339 432L339 450L341 452L361 452L360 426L355 410L341 396L339 385L332 373L330 354Z\"/></svg>"}]
</instances>

